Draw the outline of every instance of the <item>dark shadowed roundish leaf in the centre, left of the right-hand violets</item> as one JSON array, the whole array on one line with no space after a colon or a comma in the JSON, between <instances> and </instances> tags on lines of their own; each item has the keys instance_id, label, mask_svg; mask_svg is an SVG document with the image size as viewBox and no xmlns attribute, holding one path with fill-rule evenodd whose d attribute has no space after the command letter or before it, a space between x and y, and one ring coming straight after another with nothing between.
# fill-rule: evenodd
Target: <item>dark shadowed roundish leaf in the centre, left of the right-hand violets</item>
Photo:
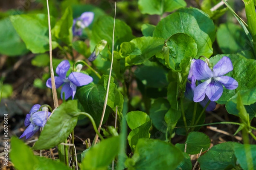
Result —
<instances>
[{"instance_id":1,"label":"dark shadowed roundish leaf in the centre, left of the right-hand violets","mask_svg":"<svg viewBox=\"0 0 256 170\"><path fill-rule=\"evenodd\" d=\"M164 88L168 85L168 71L157 62L145 61L137 67L134 74L148 88Z\"/></svg>"}]
</instances>

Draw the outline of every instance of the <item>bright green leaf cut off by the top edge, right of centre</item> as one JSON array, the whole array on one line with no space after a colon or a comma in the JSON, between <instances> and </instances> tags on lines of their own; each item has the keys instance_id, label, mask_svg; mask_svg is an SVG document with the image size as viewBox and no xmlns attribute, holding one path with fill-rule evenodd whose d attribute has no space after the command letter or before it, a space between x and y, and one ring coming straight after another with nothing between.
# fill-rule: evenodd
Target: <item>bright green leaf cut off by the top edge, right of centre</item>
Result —
<instances>
[{"instance_id":1,"label":"bright green leaf cut off by the top edge, right of centre","mask_svg":"<svg viewBox=\"0 0 256 170\"><path fill-rule=\"evenodd\" d=\"M142 14L163 15L164 12L185 7L186 2L184 0L139 0L138 5Z\"/></svg>"}]
</instances>

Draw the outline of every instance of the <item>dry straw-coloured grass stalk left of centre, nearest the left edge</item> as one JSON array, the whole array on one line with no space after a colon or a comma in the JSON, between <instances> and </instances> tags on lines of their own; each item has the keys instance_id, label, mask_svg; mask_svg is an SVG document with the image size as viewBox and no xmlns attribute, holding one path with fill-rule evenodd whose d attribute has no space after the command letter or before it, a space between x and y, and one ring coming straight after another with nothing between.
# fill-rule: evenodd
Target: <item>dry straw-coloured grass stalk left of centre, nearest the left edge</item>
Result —
<instances>
[{"instance_id":1,"label":"dry straw-coloured grass stalk left of centre, nearest the left edge","mask_svg":"<svg viewBox=\"0 0 256 170\"><path fill-rule=\"evenodd\" d=\"M49 56L50 56L50 72L51 72L51 80L52 80L52 97L54 108L58 107L58 96L55 86L55 79L54 79L54 71L52 66L52 34L51 34L51 19L50 19L50 12L49 12L49 3L47 2L47 12L48 12L48 27L49 27Z\"/></svg>"}]
</instances>

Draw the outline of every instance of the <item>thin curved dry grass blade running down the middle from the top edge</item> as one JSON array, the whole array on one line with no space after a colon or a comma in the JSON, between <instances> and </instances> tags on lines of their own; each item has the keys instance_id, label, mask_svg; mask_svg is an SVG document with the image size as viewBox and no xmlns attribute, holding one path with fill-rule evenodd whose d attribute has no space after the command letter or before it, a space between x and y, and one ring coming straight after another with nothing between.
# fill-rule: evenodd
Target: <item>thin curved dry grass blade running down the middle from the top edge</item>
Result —
<instances>
[{"instance_id":1,"label":"thin curved dry grass blade running down the middle from the top edge","mask_svg":"<svg viewBox=\"0 0 256 170\"><path fill-rule=\"evenodd\" d=\"M113 67L113 57L114 57L114 36L115 36L115 25L116 25L116 2L115 2L115 14L114 14L114 25L113 25L113 37L112 37L112 58L111 58L111 65L110 65L110 71L109 71L109 77L108 77L108 86L107 86L107 92L106 92L106 97L105 97L105 102L103 106L103 111L102 111L102 117L99 122L99 127L98 131L100 132L100 129L102 127L102 122L105 116L105 111L107 108L107 103L108 103L108 94L109 94L109 87L110 87L110 79L111 79L111 74L112 74L112 67ZM93 144L96 144L99 139L99 135L96 134L94 138Z\"/></svg>"}]
</instances>

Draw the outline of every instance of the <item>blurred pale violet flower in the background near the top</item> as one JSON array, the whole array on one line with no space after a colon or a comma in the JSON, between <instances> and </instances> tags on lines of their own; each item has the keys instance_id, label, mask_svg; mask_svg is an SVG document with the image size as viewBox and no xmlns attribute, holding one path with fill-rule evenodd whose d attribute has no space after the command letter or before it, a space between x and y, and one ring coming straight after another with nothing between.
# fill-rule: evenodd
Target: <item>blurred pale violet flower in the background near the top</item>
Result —
<instances>
[{"instance_id":1,"label":"blurred pale violet flower in the background near the top","mask_svg":"<svg viewBox=\"0 0 256 170\"><path fill-rule=\"evenodd\" d=\"M93 17L93 12L84 12L80 17L74 19L72 26L73 35L81 36L83 29L93 22Z\"/></svg>"}]
</instances>

